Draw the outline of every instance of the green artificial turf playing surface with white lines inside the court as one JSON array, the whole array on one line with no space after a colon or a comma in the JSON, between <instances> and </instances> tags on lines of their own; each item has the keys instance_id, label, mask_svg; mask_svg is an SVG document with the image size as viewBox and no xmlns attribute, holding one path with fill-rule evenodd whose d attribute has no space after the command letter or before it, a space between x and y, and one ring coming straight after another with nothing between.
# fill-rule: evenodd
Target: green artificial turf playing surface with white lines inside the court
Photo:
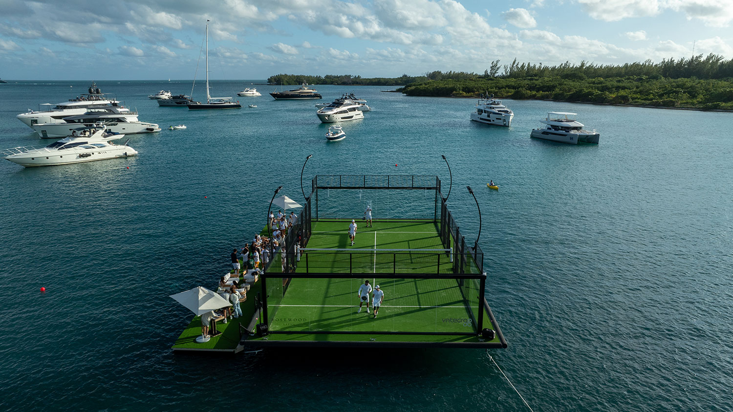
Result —
<instances>
[{"instance_id":1,"label":"green artificial turf playing surface with white lines inside the court","mask_svg":"<svg viewBox=\"0 0 733 412\"><path fill-rule=\"evenodd\" d=\"M413 332L474 333L479 299L468 286L476 279L402 279L400 273L453 273L434 221L375 221L373 227L358 221L356 240L350 246L350 220L317 221L306 253L298 263L298 273L355 273L350 279L293 278L282 296L270 293L270 331ZM308 249L369 249L368 251L312 251ZM375 253L373 249L413 249L408 252ZM418 250L415 250L418 249ZM306 272L305 255L308 254ZM351 254L351 257L349 256ZM397 254L396 257L393 257ZM438 257L440 255L440 257ZM374 279L370 273L397 273L388 279ZM350 268L351 265L351 268ZM438 266L439 265L439 266ZM356 274L359 273L359 274ZM277 282L276 278L268 282ZM358 312L358 288L369 280L384 291L377 317L364 304ZM268 287L269 289L269 287ZM465 295L468 294L468 297ZM371 306L371 295L369 297ZM472 309L467 302L471 302Z\"/></svg>"}]
</instances>

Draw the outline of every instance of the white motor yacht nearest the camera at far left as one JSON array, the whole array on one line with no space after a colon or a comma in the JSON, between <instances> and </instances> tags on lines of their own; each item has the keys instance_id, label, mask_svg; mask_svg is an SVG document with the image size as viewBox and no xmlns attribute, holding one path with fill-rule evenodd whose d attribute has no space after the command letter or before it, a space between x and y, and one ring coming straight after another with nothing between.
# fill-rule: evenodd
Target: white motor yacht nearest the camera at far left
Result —
<instances>
[{"instance_id":1,"label":"white motor yacht nearest the camera at far left","mask_svg":"<svg viewBox=\"0 0 733 412\"><path fill-rule=\"evenodd\" d=\"M78 128L73 130L72 136L54 141L46 147L13 147L0 150L0 155L21 166L33 167L126 158L138 154L127 143L111 142L123 137L124 134L109 133L104 128Z\"/></svg>"}]
</instances>

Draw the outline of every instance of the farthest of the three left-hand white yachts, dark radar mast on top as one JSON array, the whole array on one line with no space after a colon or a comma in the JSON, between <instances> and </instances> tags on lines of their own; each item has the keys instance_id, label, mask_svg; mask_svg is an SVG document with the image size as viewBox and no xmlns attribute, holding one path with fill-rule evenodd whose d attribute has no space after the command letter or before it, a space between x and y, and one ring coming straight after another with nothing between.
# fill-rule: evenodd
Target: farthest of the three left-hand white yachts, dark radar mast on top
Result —
<instances>
[{"instance_id":1,"label":"farthest of the three left-hand white yachts, dark radar mast on top","mask_svg":"<svg viewBox=\"0 0 733 412\"><path fill-rule=\"evenodd\" d=\"M84 114L89 108L108 108L114 107L120 111L127 111L124 106L120 106L119 101L104 97L104 93L92 81L89 87L89 93L80 95L77 98L69 99L66 102L56 105L51 103L43 103L40 106L46 106L46 110L33 111L28 109L26 113L18 114L18 120L28 126L42 125L44 123L61 123L65 117Z\"/></svg>"}]
</instances>

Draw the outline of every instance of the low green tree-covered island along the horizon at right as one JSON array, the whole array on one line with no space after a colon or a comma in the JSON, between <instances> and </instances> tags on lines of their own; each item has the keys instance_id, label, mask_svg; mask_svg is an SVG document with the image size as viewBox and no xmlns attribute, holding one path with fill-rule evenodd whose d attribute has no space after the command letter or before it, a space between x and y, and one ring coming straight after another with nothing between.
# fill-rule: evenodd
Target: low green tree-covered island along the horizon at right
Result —
<instances>
[{"instance_id":1,"label":"low green tree-covered island along the horizon at right","mask_svg":"<svg viewBox=\"0 0 733 412\"><path fill-rule=\"evenodd\" d=\"M452 71L398 78L277 75L268 81L402 86L397 91L409 96L477 98L488 93L496 98L733 111L733 59L715 54L625 65L543 66L516 59L501 65L494 60L483 75Z\"/></svg>"}]
</instances>

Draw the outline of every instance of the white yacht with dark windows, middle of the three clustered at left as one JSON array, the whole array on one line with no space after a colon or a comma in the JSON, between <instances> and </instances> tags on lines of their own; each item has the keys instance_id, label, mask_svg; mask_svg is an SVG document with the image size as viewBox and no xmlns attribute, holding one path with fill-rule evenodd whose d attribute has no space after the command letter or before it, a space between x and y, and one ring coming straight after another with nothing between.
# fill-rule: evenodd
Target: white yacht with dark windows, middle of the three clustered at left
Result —
<instances>
[{"instance_id":1,"label":"white yacht with dark windows, middle of the three clustered at left","mask_svg":"<svg viewBox=\"0 0 733 412\"><path fill-rule=\"evenodd\" d=\"M155 123L141 122L136 111L117 108L90 108L86 113L70 116L60 123L33 125L31 128L43 138L69 136L76 128L101 127L113 133L152 133L161 131Z\"/></svg>"}]
</instances>

